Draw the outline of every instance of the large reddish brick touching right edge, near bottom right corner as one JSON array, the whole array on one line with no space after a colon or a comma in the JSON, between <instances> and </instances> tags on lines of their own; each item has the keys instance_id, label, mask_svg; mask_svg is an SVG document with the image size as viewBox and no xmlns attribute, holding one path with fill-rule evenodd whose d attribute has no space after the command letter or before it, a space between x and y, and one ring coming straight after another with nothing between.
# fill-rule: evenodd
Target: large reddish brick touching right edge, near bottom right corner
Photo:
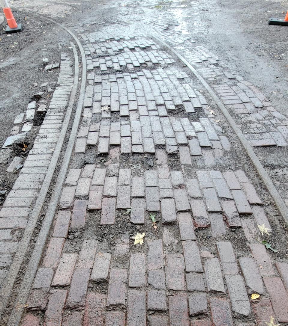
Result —
<instances>
[{"instance_id":1,"label":"large reddish brick touching right edge, near bottom right corner","mask_svg":"<svg viewBox=\"0 0 288 326\"><path fill-rule=\"evenodd\" d=\"M288 322L288 294L280 277L263 277L276 318Z\"/></svg>"}]
</instances>

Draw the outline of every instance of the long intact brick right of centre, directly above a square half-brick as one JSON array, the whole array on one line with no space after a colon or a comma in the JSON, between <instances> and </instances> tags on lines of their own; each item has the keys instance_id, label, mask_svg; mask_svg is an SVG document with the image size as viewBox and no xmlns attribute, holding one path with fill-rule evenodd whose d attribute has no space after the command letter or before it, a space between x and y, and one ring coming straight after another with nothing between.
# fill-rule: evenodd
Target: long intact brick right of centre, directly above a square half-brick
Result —
<instances>
[{"instance_id":1,"label":"long intact brick right of centre, directly above a square half-brick","mask_svg":"<svg viewBox=\"0 0 288 326\"><path fill-rule=\"evenodd\" d=\"M185 240L182 242L182 246L186 272L203 272L197 243Z\"/></svg>"}]
</instances>

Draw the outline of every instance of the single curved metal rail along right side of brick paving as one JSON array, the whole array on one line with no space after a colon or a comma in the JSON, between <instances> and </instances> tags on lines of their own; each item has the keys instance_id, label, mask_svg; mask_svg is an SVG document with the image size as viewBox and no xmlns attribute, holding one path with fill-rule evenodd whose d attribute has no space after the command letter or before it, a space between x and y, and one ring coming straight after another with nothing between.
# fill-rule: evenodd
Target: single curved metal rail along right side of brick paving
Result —
<instances>
[{"instance_id":1,"label":"single curved metal rail along right side of brick paving","mask_svg":"<svg viewBox=\"0 0 288 326\"><path fill-rule=\"evenodd\" d=\"M127 22L126 22L127 23ZM221 100L218 98L216 93L213 91L213 89L205 82L205 80L201 77L199 72L176 50L174 50L171 46L169 46L166 42L164 42L161 38L151 34L152 37L154 37L158 42L162 43L164 46L166 46L170 51L172 51L177 57L184 62L184 64L193 72L195 77L199 79L201 84L205 87L205 89L209 92L209 94L212 96L214 101L216 102L217 106L219 107L220 111L225 116L226 120L229 122L230 126L234 130L235 134L239 138L241 144L243 145L244 149L246 150L248 156L251 159L252 164L255 166L258 174L260 175L261 179L263 180L265 186L267 187L271 197L273 198L280 214L283 217L283 220L285 221L286 225L288 226L288 208L280 196L278 190L276 189L275 185L273 184L271 178L269 177L268 173L264 169L263 165L261 164L259 158L257 157L256 153L254 152L252 146L249 144L247 139L245 138L244 134L240 130L240 128L237 126L236 122L230 115L230 113L227 111L225 106L222 104Z\"/></svg>"}]
</instances>

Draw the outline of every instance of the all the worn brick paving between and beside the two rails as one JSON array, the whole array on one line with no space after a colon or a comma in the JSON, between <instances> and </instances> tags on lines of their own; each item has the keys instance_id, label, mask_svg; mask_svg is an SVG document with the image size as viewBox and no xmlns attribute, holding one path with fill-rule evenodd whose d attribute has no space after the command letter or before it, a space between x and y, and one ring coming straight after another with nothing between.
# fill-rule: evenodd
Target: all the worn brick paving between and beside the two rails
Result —
<instances>
[{"instance_id":1,"label":"all the worn brick paving between and beside the two rails","mask_svg":"<svg viewBox=\"0 0 288 326\"><path fill-rule=\"evenodd\" d=\"M197 45L182 28L183 4L173 4L175 29L159 11L143 14L139 32L138 2L119 4L128 23L73 28L87 61L82 119L22 326L288 323L281 216L208 92L153 36L197 67L252 146L287 146L288 119ZM69 55L61 53L50 106L30 104L15 121L25 131L47 109L0 211L3 281L57 142L73 84Z\"/></svg>"}]
</instances>

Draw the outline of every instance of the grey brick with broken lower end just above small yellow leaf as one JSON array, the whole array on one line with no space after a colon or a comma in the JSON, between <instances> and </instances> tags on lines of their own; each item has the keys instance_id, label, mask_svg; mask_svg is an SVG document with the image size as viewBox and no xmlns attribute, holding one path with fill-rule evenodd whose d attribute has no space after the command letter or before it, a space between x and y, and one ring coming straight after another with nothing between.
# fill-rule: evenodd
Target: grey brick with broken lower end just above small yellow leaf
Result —
<instances>
[{"instance_id":1,"label":"grey brick with broken lower end just above small yellow leaf","mask_svg":"<svg viewBox=\"0 0 288 326\"><path fill-rule=\"evenodd\" d=\"M250 257L241 257L239 258L239 265L248 293L264 294L264 285L255 260Z\"/></svg>"}]
</instances>

